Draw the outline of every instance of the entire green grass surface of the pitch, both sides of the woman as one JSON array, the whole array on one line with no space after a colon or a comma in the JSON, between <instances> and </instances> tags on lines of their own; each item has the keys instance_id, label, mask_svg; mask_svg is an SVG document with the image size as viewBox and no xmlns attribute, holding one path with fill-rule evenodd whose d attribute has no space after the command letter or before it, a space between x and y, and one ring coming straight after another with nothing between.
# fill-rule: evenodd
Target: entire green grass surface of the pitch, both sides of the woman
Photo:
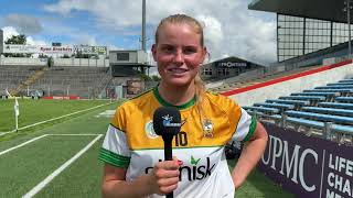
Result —
<instances>
[{"instance_id":1,"label":"entire green grass surface of the pitch, both sides of the woman","mask_svg":"<svg viewBox=\"0 0 353 198\"><path fill-rule=\"evenodd\" d=\"M7 102L7 109L12 110L13 100ZM106 101L20 100L20 106L21 116L23 116L22 109L24 107L26 107L29 113L25 117L33 117L31 112L36 116L41 114L39 116L41 119L22 118L23 122L26 120L28 124L31 124L43 121L43 119L46 120L85 108L87 109L101 102ZM116 109L118 105L111 103L57 122L46 123L44 127L22 130L17 132L15 135L4 135L6 138L2 139L0 136L0 152L42 134L105 133L111 118L97 116L105 110ZM4 107L4 105L1 103L1 107ZM54 108L50 110L51 107ZM39 113L35 109L43 109L49 114ZM4 112L1 108L0 111ZM2 114L0 117L9 119ZM3 122L1 121L1 123ZM95 136L46 136L4 155L0 155L0 197L12 198L23 196L94 139ZM101 142L103 139L96 142L83 156L56 176L35 197L100 197L103 164L97 161L97 155ZM236 162L229 161L228 163L232 168ZM293 196L282 190L280 186L274 184L260 172L254 170L245 184L236 191L236 197L287 198Z\"/></svg>"}]
</instances>

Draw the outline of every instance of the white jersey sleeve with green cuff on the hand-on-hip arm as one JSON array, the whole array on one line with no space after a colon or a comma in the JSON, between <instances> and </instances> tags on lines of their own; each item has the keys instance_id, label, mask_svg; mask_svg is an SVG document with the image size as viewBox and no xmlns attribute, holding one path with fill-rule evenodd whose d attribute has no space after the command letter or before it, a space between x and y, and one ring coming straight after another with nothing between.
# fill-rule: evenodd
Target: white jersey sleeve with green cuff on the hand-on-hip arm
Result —
<instances>
[{"instance_id":1,"label":"white jersey sleeve with green cuff on the hand-on-hip arm","mask_svg":"<svg viewBox=\"0 0 353 198\"><path fill-rule=\"evenodd\" d=\"M256 119L239 108L240 117L233 134L232 141L246 142L250 140L256 129Z\"/></svg>"}]
</instances>

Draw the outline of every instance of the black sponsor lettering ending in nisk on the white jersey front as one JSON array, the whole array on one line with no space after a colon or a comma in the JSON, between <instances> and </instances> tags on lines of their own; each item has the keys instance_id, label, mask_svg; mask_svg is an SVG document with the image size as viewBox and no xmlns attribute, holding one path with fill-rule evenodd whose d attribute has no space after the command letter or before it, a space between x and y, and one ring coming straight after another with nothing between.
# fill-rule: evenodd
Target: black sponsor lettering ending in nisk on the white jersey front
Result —
<instances>
[{"instance_id":1,"label":"black sponsor lettering ending in nisk on the white jersey front","mask_svg":"<svg viewBox=\"0 0 353 198\"><path fill-rule=\"evenodd\" d=\"M162 160L159 160L159 162L162 162ZM206 163L201 164L201 162L202 162L202 158L194 158L193 156L191 156L190 164L192 166L180 166L179 180L180 182L182 182L183 179L188 179L189 182L202 180L211 176L215 164L211 165L210 157L206 157ZM153 167L147 167L145 169L145 173L148 174L152 169Z\"/></svg>"}]
</instances>

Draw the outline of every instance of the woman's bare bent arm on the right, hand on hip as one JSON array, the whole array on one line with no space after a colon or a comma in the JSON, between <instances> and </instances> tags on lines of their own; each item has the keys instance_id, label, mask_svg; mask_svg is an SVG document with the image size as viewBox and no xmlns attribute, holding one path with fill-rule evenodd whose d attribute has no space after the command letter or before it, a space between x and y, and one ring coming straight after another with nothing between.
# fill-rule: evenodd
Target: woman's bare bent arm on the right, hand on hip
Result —
<instances>
[{"instance_id":1,"label":"woman's bare bent arm on the right, hand on hip","mask_svg":"<svg viewBox=\"0 0 353 198\"><path fill-rule=\"evenodd\" d=\"M233 169L232 177L235 189L245 182L248 174L256 166L267 144L267 132L261 123L257 122L256 130L249 142L243 148L240 157Z\"/></svg>"}]
</instances>

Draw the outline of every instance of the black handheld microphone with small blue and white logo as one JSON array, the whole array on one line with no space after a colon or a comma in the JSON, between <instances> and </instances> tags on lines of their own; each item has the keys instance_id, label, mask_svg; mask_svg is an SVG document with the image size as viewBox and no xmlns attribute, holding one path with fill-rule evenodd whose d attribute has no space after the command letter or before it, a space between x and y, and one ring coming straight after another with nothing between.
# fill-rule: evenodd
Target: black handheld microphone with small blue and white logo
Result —
<instances>
[{"instance_id":1,"label":"black handheld microphone with small blue and white logo","mask_svg":"<svg viewBox=\"0 0 353 198\"><path fill-rule=\"evenodd\" d=\"M153 113L153 130L164 142L164 161L172 161L172 140L181 129L181 116L176 108L160 107ZM167 195L173 198L173 191Z\"/></svg>"}]
</instances>

